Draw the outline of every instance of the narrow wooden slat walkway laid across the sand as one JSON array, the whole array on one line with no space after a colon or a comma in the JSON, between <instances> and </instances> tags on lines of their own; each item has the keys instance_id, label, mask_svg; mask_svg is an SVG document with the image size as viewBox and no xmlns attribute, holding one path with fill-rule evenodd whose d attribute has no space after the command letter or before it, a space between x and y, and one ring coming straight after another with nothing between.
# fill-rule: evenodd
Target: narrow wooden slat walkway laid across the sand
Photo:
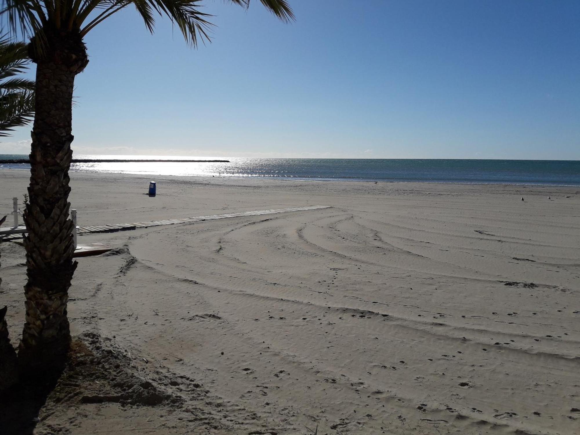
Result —
<instances>
[{"instance_id":1,"label":"narrow wooden slat walkway laid across the sand","mask_svg":"<svg viewBox=\"0 0 580 435\"><path fill-rule=\"evenodd\" d=\"M329 208L329 205L310 205L306 207L278 208L271 210L258 210L253 212L227 213L225 215L195 216L195 218L154 220L152 222L92 225L86 227L77 227L77 234L115 233L117 231L135 230L137 228L156 227L159 225L175 225L177 223L201 222L203 220L212 220L212 219L241 218L242 216L274 215L276 213L299 212L305 210L317 210L321 208ZM0 234L0 242L22 238L23 233L24 229L21 233Z\"/></svg>"}]
</instances>

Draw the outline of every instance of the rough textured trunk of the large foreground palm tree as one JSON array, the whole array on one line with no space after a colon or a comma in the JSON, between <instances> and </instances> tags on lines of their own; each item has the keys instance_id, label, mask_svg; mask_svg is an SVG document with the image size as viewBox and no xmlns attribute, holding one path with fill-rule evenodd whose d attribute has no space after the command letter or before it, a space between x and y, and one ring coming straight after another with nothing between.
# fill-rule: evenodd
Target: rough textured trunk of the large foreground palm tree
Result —
<instances>
[{"instance_id":1,"label":"rough textured trunk of the large foreground palm tree","mask_svg":"<svg viewBox=\"0 0 580 435\"><path fill-rule=\"evenodd\" d=\"M26 324L19 348L21 365L35 367L41 375L63 368L70 345L68 288L77 267L73 262L73 222L68 215L73 86L75 75L88 63L78 35L48 31L45 35L42 51L34 39L29 50L37 63L36 106L30 200L24 212L28 230L24 238Z\"/></svg>"}]
</instances>

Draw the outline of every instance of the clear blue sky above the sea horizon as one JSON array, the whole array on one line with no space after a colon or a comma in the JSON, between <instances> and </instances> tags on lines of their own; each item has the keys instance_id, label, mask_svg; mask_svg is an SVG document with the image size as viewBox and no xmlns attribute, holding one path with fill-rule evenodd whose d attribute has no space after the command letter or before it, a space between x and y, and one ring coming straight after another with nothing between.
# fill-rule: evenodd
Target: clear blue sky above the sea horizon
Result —
<instances>
[{"instance_id":1,"label":"clear blue sky above the sea horizon","mask_svg":"<svg viewBox=\"0 0 580 435\"><path fill-rule=\"evenodd\" d=\"M207 0L198 49L132 9L100 24L75 153L580 160L579 1L290 2Z\"/></svg>"}]
</instances>

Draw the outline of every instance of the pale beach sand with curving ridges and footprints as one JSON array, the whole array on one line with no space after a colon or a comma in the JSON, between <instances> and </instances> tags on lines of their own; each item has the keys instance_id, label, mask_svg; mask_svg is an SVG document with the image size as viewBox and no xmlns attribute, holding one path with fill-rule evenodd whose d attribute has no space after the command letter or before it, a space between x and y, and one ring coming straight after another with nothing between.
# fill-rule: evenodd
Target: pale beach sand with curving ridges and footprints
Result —
<instances>
[{"instance_id":1,"label":"pale beach sand with curving ridges and footprints","mask_svg":"<svg viewBox=\"0 0 580 435\"><path fill-rule=\"evenodd\" d=\"M2 210L27 176L0 172ZM81 225L331 208L80 236L114 250L79 259L86 361L35 433L580 432L578 187L71 178Z\"/></svg>"}]
</instances>

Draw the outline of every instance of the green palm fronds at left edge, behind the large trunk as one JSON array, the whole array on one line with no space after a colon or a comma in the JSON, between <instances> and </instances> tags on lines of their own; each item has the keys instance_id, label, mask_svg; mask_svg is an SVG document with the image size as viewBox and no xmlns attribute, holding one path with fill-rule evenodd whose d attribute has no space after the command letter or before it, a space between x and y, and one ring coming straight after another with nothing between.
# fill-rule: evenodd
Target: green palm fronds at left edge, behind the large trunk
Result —
<instances>
[{"instance_id":1,"label":"green palm fronds at left edge, behind the large trunk","mask_svg":"<svg viewBox=\"0 0 580 435\"><path fill-rule=\"evenodd\" d=\"M28 48L0 36L0 136L29 124L34 115L34 81L17 74L27 70Z\"/></svg>"}]
</instances>

